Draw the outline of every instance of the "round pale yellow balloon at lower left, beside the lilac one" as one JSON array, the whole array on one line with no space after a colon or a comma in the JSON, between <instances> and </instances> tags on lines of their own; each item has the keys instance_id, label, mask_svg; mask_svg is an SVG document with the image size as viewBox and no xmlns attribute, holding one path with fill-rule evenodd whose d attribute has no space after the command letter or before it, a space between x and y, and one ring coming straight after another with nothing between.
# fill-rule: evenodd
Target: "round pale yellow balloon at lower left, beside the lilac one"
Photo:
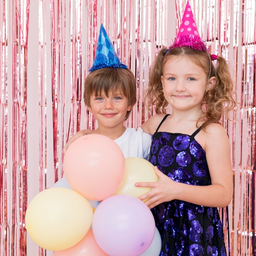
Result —
<instances>
[{"instance_id":1,"label":"round pale yellow balloon at lower left, beside the lilac one","mask_svg":"<svg viewBox=\"0 0 256 256\"><path fill-rule=\"evenodd\" d=\"M37 245L49 250L64 250L85 236L92 216L92 207L82 195L67 188L50 188L31 200L25 224Z\"/></svg>"}]
</instances>

